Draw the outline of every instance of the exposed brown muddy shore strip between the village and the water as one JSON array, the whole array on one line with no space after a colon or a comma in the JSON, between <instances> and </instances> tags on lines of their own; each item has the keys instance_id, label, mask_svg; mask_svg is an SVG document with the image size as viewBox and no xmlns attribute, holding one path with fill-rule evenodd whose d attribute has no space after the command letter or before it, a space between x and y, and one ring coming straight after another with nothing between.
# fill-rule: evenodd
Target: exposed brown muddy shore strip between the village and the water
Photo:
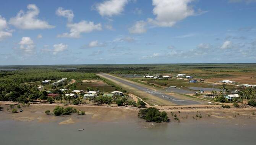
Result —
<instances>
[{"instance_id":1,"label":"exposed brown muddy shore strip between the village and the water","mask_svg":"<svg viewBox=\"0 0 256 145\"><path fill-rule=\"evenodd\" d=\"M140 124L148 124L149 122L137 117L140 108L135 107L119 107L119 106L96 106L96 105L68 105L63 104L31 104L31 106L22 107L23 112L11 113L9 105L3 105L6 102L0 102L3 110L0 111L1 120L15 121L37 121L37 122L57 122L61 124L73 124L77 122L139 122ZM45 110L52 113L55 106L73 107L77 110L85 111L85 115L72 113L67 116L54 116L45 114ZM9 108L9 111L7 111ZM164 106L157 108L160 111L166 111L171 123L182 122L189 123L194 121L203 121L206 123L215 122L232 122L235 124L253 124L256 121L256 108L165 108ZM175 120L174 115L180 121ZM158 124L155 122L150 122ZM165 123L163 123L165 124Z\"/></svg>"}]
</instances>

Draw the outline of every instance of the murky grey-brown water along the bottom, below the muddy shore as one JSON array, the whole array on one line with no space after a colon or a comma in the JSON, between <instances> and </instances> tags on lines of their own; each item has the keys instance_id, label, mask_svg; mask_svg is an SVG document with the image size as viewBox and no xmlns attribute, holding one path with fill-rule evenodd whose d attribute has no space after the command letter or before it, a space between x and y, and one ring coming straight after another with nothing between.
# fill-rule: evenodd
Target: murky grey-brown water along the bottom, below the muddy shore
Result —
<instances>
[{"instance_id":1,"label":"murky grey-brown water along the bottom, below the muddy shore","mask_svg":"<svg viewBox=\"0 0 256 145\"><path fill-rule=\"evenodd\" d=\"M1 145L255 145L256 126L207 123L0 121ZM84 128L84 131L78 129Z\"/></svg>"}]
</instances>

